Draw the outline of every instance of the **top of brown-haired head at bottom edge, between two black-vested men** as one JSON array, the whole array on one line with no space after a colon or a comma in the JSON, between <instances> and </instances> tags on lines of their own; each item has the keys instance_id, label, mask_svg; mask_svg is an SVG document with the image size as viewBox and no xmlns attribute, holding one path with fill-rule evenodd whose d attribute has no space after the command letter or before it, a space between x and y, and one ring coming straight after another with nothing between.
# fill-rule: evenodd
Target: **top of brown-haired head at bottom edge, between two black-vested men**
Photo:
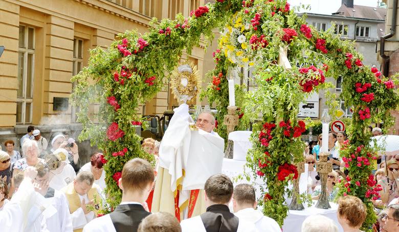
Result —
<instances>
[{"instance_id":1,"label":"top of brown-haired head at bottom edge, between two black-vested men","mask_svg":"<svg viewBox=\"0 0 399 232\"><path fill-rule=\"evenodd\" d=\"M176 217L166 212L158 212L145 217L137 232L181 232L182 227Z\"/></svg>"}]
</instances>

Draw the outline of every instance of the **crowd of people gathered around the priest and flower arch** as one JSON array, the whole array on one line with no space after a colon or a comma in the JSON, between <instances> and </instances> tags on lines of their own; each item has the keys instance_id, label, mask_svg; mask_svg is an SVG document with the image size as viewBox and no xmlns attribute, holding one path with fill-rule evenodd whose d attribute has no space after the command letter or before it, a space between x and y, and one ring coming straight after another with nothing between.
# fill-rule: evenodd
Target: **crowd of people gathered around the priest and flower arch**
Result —
<instances>
[{"instance_id":1,"label":"crowd of people gathered around the priest and flower arch","mask_svg":"<svg viewBox=\"0 0 399 232\"><path fill-rule=\"evenodd\" d=\"M203 122L200 122L203 123ZM373 135L381 135L378 129ZM341 171L339 147L345 141L343 132L330 133L328 138L329 159L333 170L327 175L327 195L336 198L335 184L345 177ZM305 152L308 164L307 193L317 200L321 194L320 177L316 164L322 144L310 144ZM281 228L272 218L257 208L255 189L252 185L233 187L231 179L215 174L205 183L206 213L179 222L169 213L150 213L148 202L153 194L159 166L160 143L145 139L142 149L153 154L155 167L142 159L128 161L122 171L118 186L122 190L122 202L112 213L98 212L106 203L104 189L105 171L101 153L94 153L90 162L78 167L78 145L62 134L54 135L48 144L33 126L21 138L21 152L14 150L14 142L4 143L6 151L0 151L0 221L2 231L271 231ZM50 145L50 146L48 146ZM379 213L380 230L399 231L399 159L394 152L381 162L375 171L375 181L382 186L381 198L374 200ZM399 158L399 157L398 157ZM367 210L363 202L354 196L338 199L338 222L344 231L360 231ZM383 209L383 211L377 211ZM19 223L17 226L16 223ZM338 231L331 219L321 215L310 216L302 224L301 231Z\"/></svg>"}]
</instances>

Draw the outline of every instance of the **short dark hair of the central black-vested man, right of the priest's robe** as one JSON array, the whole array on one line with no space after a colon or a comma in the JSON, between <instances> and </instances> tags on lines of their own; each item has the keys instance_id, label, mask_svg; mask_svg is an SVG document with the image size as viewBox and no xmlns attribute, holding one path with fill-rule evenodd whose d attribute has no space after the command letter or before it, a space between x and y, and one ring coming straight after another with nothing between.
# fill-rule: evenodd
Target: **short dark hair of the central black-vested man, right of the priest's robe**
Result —
<instances>
[{"instance_id":1,"label":"short dark hair of the central black-vested man, right of the priest's robe","mask_svg":"<svg viewBox=\"0 0 399 232\"><path fill-rule=\"evenodd\" d=\"M205 192L207 197L218 204L226 204L233 195L233 183L229 176L224 174L215 174L205 182Z\"/></svg>"}]
</instances>

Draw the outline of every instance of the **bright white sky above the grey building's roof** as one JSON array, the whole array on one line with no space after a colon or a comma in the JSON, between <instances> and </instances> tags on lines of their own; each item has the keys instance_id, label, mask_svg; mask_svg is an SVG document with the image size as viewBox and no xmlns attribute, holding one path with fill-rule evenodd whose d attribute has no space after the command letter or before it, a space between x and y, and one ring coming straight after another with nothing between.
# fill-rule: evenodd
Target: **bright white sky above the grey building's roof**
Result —
<instances>
[{"instance_id":1,"label":"bright white sky above the grey building's roof","mask_svg":"<svg viewBox=\"0 0 399 232\"><path fill-rule=\"evenodd\" d=\"M299 6L300 4L310 5L311 10L306 12L317 14L330 15L341 7L341 0L288 0L288 2L291 6ZM353 5L376 7L377 2L377 0L354 0Z\"/></svg>"}]
</instances>

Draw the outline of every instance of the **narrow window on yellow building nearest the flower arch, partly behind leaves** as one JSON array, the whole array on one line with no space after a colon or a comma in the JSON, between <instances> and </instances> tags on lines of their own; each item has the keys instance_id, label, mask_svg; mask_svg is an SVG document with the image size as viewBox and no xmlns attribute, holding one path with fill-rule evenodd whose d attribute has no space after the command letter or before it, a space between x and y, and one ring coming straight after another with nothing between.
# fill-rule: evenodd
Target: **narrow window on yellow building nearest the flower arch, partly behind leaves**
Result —
<instances>
[{"instance_id":1,"label":"narrow window on yellow building nearest the flower arch, partly behind leaves","mask_svg":"<svg viewBox=\"0 0 399 232\"><path fill-rule=\"evenodd\" d=\"M74 39L74 55L72 59L72 75L77 75L83 67L83 40L75 38ZM76 86L76 82L72 83L72 89ZM71 110L71 121L76 122L77 117L76 113L79 111L79 108L72 107Z\"/></svg>"}]
</instances>

